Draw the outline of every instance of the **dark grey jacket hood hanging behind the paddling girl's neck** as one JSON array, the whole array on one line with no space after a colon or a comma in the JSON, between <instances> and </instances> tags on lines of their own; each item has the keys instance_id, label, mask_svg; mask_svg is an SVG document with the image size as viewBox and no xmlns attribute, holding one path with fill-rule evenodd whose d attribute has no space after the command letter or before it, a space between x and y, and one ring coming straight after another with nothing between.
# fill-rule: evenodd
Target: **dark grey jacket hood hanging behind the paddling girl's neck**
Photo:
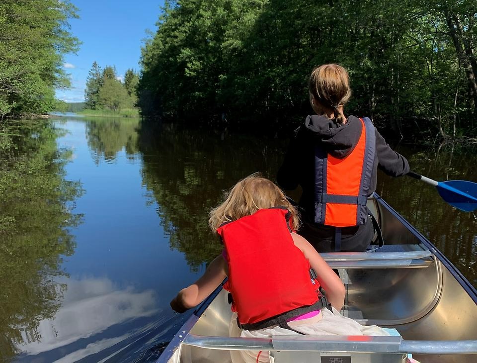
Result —
<instances>
[{"instance_id":1,"label":"dark grey jacket hood hanging behind the paddling girl's neck","mask_svg":"<svg viewBox=\"0 0 477 363\"><path fill-rule=\"evenodd\" d=\"M309 115L303 130L308 137L323 145L330 155L342 159L353 151L362 127L355 116L348 116L345 124L338 125L324 115Z\"/></svg>"}]
</instances>

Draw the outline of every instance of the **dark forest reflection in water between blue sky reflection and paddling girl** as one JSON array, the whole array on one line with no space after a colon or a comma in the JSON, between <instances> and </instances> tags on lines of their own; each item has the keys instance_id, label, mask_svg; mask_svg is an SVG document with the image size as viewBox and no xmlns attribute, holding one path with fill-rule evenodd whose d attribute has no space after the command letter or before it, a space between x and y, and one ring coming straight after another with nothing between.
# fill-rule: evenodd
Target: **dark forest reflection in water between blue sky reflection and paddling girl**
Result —
<instances>
[{"instance_id":1,"label":"dark forest reflection in water between blue sky reflection and paddling girl","mask_svg":"<svg viewBox=\"0 0 477 363\"><path fill-rule=\"evenodd\" d=\"M207 227L208 212L223 191L254 173L274 178L282 158L279 142L223 131L143 123L143 183L158 203L170 247L185 254L193 270L222 246Z\"/></svg>"}]
</instances>

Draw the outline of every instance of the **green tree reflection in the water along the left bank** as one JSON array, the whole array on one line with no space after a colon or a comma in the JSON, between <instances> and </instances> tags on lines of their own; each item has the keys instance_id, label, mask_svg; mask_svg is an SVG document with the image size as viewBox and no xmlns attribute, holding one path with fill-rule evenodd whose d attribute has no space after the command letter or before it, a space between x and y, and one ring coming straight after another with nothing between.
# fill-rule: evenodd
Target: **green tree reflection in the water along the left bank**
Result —
<instances>
[{"instance_id":1,"label":"green tree reflection in the water along the left bank","mask_svg":"<svg viewBox=\"0 0 477 363\"><path fill-rule=\"evenodd\" d=\"M68 228L80 223L71 209L81 187L65 180L72 152L58 149L61 131L49 121L11 122L2 131L0 360L7 360L17 344L38 340L39 322L60 306L65 285L55 281L76 246Z\"/></svg>"}]
</instances>

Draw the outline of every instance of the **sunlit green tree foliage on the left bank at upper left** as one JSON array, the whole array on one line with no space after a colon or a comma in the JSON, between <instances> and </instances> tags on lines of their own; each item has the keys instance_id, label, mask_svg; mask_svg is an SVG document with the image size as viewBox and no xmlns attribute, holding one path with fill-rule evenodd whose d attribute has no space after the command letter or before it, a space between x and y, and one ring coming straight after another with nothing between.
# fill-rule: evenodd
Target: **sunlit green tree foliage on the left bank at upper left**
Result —
<instances>
[{"instance_id":1,"label":"sunlit green tree foliage on the left bank at upper left","mask_svg":"<svg viewBox=\"0 0 477 363\"><path fill-rule=\"evenodd\" d=\"M76 10L68 0L0 1L0 118L55 108L55 89L70 85L63 56L79 45L68 23Z\"/></svg>"}]
</instances>

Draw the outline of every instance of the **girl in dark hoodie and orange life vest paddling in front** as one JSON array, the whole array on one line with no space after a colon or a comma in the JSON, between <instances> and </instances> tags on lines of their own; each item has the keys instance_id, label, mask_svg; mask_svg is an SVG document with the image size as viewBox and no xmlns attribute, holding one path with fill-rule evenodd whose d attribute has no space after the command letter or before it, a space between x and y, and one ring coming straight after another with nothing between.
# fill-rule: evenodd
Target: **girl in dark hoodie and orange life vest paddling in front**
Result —
<instances>
[{"instance_id":1,"label":"girl in dark hoodie and orange life vest paddling in front","mask_svg":"<svg viewBox=\"0 0 477 363\"><path fill-rule=\"evenodd\" d=\"M313 70L306 118L290 143L277 181L301 185L303 226L298 232L319 252L365 251L374 229L366 200L376 190L377 169L397 177L409 172L369 118L344 114L349 76L337 64Z\"/></svg>"}]
</instances>

